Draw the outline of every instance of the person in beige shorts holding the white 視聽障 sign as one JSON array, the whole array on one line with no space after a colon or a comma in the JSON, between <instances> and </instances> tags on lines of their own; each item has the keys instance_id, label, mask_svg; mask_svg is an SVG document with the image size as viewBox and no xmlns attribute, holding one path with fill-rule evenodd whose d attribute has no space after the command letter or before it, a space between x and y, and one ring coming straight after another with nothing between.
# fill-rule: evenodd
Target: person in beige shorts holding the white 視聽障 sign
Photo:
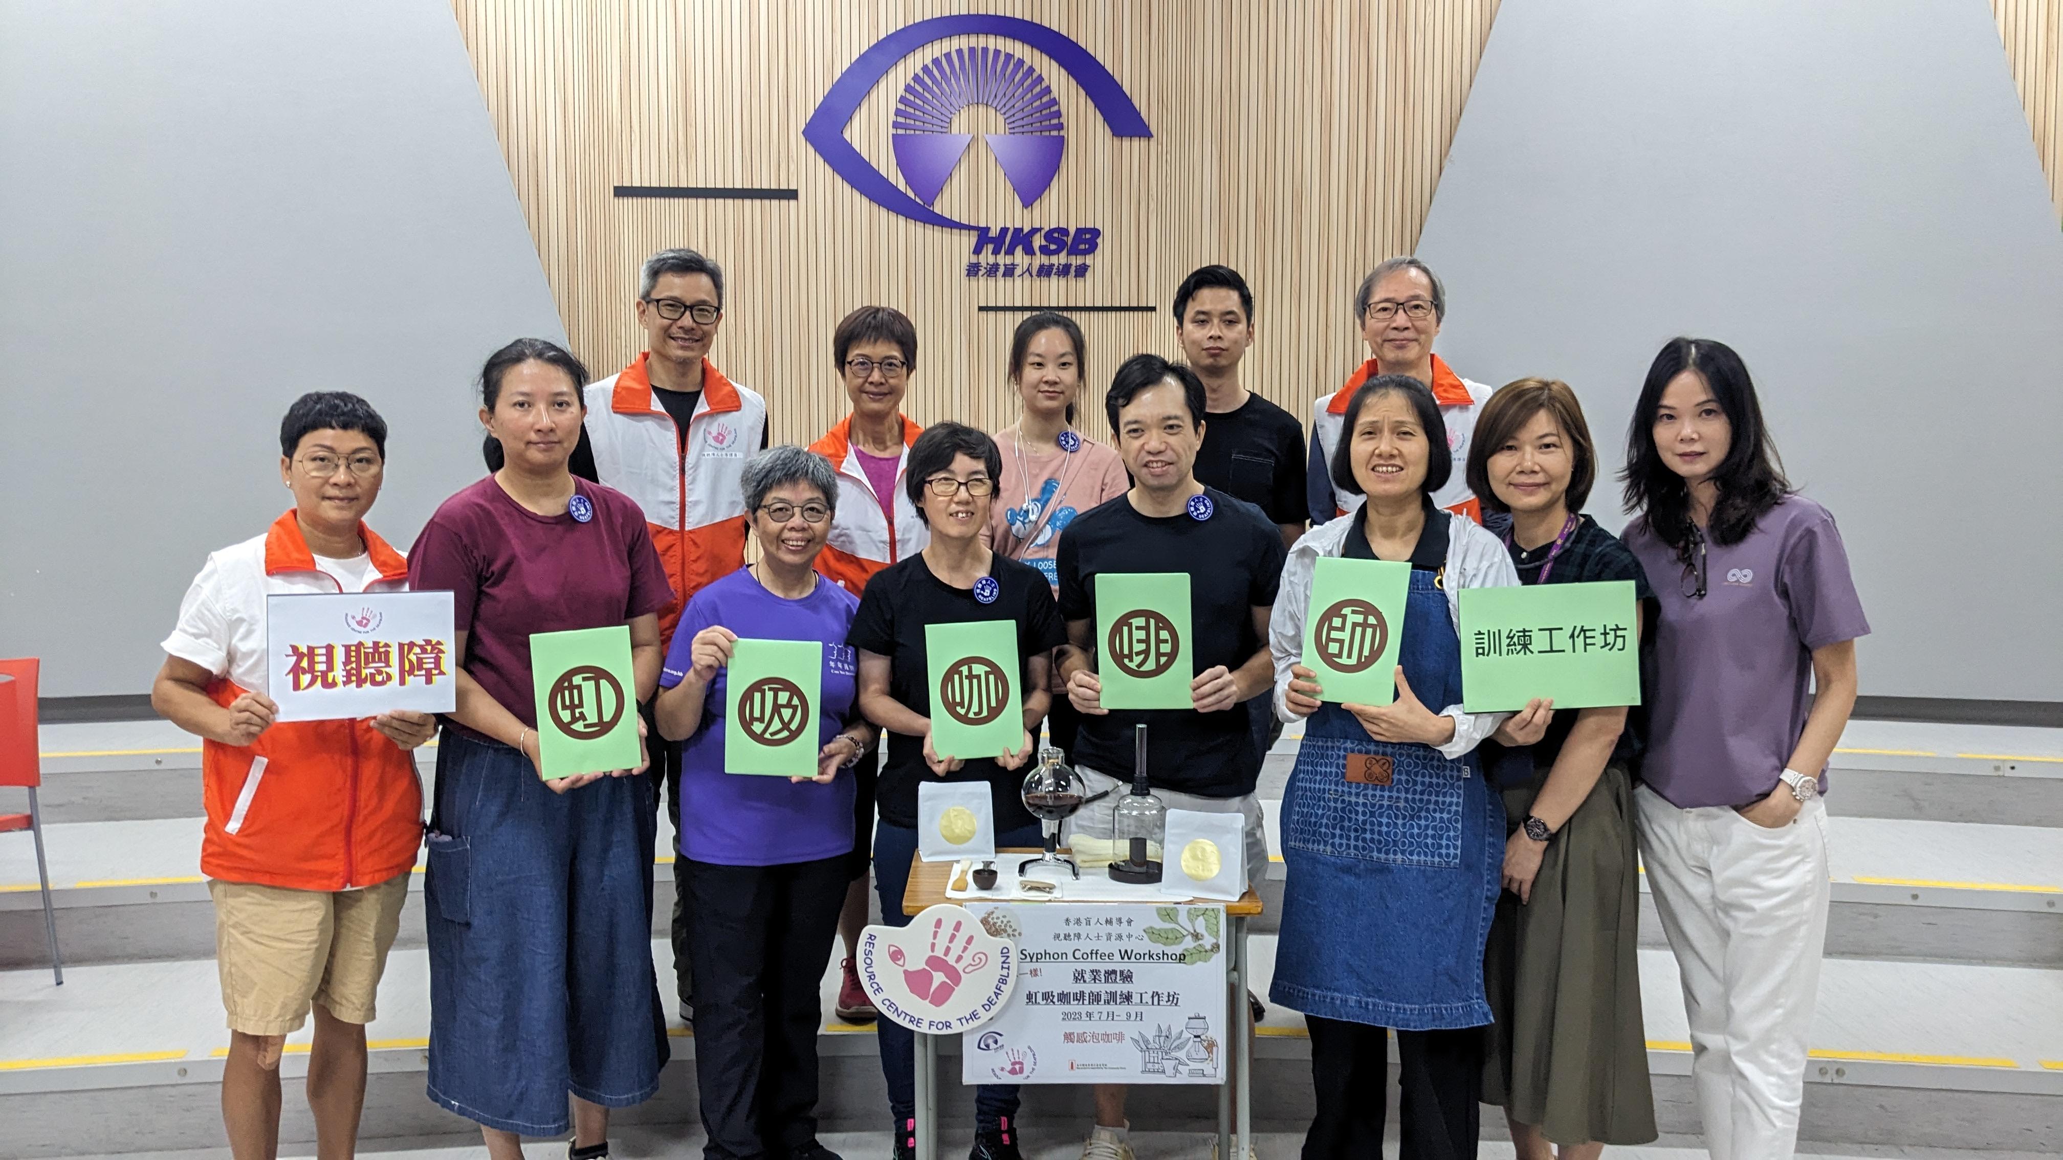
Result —
<instances>
[{"instance_id":1,"label":"person in beige shorts holding the white \u8996\u807d\u969c sign","mask_svg":"<svg viewBox=\"0 0 2063 1160\"><path fill-rule=\"evenodd\" d=\"M365 1024L423 844L413 749L437 720L274 720L266 597L408 588L408 563L365 526L386 473L380 413L340 390L303 394L279 444L293 508L208 555L165 638L151 706L202 739L200 873L229 1011L229 1146L276 1152L281 1053L314 1011L307 1071L326 1077L307 1086L316 1141L324 1156L349 1156L365 1102Z\"/></svg>"}]
</instances>

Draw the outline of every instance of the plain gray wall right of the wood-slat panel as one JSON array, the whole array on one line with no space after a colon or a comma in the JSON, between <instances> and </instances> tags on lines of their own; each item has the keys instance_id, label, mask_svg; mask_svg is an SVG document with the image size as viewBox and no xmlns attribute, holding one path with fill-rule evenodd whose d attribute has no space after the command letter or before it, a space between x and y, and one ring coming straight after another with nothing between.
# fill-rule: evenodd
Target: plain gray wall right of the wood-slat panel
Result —
<instances>
[{"instance_id":1,"label":"plain gray wall right of the wood-slat panel","mask_svg":"<svg viewBox=\"0 0 2063 1160\"><path fill-rule=\"evenodd\" d=\"M1983 0L1506 0L1419 254L1442 355L1568 380L1613 473L1669 336L1741 351L1865 694L2063 702L2063 235Z\"/></svg>"}]
</instances>

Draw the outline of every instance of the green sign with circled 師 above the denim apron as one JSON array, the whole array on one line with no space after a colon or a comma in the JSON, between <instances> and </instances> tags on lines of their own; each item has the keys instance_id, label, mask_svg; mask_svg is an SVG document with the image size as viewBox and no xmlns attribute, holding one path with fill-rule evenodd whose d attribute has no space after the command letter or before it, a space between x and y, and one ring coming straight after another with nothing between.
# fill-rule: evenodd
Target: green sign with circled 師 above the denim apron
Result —
<instances>
[{"instance_id":1,"label":"green sign with circled \u5e2b above the denim apron","mask_svg":"<svg viewBox=\"0 0 2063 1160\"><path fill-rule=\"evenodd\" d=\"M1304 609L1304 667L1316 673L1318 700L1366 706L1397 700L1397 642L1409 594L1409 563L1318 559Z\"/></svg>"}]
</instances>

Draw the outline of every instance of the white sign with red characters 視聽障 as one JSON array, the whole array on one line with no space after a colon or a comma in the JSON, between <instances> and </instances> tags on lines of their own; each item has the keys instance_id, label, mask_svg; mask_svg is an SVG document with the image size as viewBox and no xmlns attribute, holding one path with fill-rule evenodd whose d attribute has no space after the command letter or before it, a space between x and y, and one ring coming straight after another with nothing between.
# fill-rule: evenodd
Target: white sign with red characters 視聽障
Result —
<instances>
[{"instance_id":1,"label":"white sign with red characters \u8996\u807d\u969c","mask_svg":"<svg viewBox=\"0 0 2063 1160\"><path fill-rule=\"evenodd\" d=\"M264 627L276 720L458 708L450 592L266 597Z\"/></svg>"}]
</instances>

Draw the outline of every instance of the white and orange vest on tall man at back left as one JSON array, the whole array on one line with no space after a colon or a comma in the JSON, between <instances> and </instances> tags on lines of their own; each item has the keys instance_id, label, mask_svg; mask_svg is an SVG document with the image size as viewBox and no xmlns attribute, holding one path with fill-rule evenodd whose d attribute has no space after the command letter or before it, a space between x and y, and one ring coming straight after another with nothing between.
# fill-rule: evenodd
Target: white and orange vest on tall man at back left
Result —
<instances>
[{"instance_id":1,"label":"white and orange vest on tall man at back left","mask_svg":"<svg viewBox=\"0 0 2063 1160\"><path fill-rule=\"evenodd\" d=\"M652 394L650 351L623 372L588 384L588 446L600 483L637 502L652 547L666 566L673 603L658 613L673 640L687 599L745 566L745 460L765 442L767 402L701 363L701 402L687 444Z\"/></svg>"}]
</instances>

